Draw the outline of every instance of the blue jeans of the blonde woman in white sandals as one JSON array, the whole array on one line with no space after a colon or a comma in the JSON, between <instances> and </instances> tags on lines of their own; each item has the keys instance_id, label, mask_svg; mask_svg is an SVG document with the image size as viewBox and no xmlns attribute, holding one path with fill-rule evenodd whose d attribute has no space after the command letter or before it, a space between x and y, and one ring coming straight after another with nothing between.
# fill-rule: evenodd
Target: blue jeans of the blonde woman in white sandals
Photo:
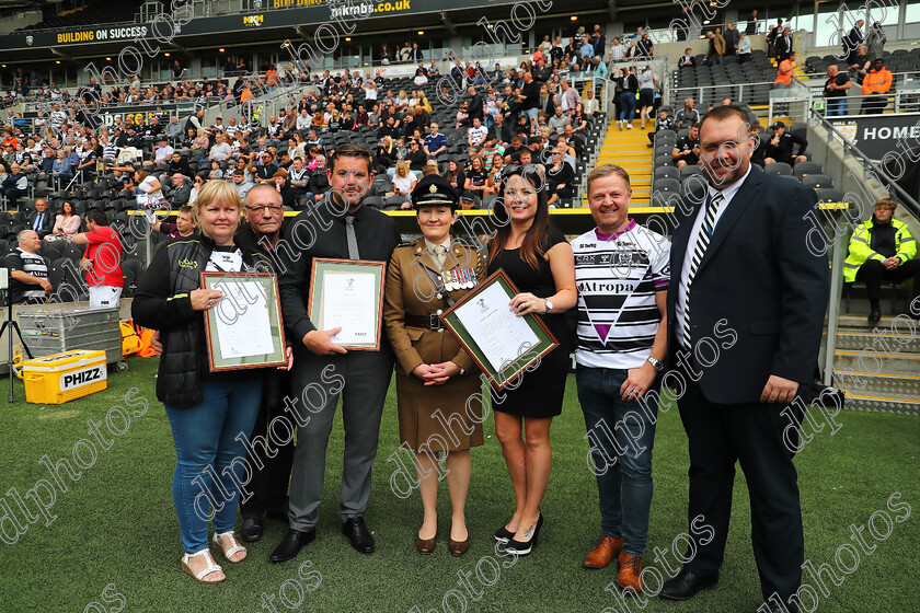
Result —
<instances>
[{"instance_id":1,"label":"blue jeans of the blonde woman in white sandals","mask_svg":"<svg viewBox=\"0 0 920 613\"><path fill-rule=\"evenodd\" d=\"M194 406L163 405L175 442L173 500L187 554L208 546L208 520L217 533L233 530L240 484L249 473L243 440L258 415L262 378L203 381L202 393L204 401Z\"/></svg>"}]
</instances>

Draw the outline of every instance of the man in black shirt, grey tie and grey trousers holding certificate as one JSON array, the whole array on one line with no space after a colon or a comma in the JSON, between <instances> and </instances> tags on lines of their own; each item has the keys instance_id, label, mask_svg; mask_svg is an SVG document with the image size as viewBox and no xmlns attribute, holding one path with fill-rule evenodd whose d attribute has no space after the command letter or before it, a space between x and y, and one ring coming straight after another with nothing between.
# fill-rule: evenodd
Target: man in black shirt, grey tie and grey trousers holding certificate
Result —
<instances>
[{"instance_id":1,"label":"man in black shirt, grey tie and grey trousers holding certificate","mask_svg":"<svg viewBox=\"0 0 920 613\"><path fill-rule=\"evenodd\" d=\"M378 350L346 350L335 338L342 327L318 329L322 321L310 319L307 304L313 258L388 263L402 239L393 218L363 205L373 183L370 153L357 144L342 144L330 158L325 171L330 189L323 204L294 218L288 239L273 250L283 271L278 290L285 326L295 344L295 402L290 409L285 402L284 410L298 426L290 475L289 529L268 557L274 563L294 558L315 539L326 448L340 396L345 429L338 505L342 532L360 553L373 553L376 546L365 513L383 402L393 374L393 351L386 340ZM311 184L318 176L320 172L313 175Z\"/></svg>"}]
</instances>

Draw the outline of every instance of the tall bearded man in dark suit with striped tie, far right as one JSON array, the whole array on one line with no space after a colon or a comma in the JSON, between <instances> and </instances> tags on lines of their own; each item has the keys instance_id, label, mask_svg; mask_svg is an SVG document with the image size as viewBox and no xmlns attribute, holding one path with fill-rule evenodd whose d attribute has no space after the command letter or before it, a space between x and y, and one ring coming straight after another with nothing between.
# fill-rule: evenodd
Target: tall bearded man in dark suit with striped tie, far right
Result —
<instances>
[{"instance_id":1,"label":"tall bearded man in dark suit with striped tie, far right","mask_svg":"<svg viewBox=\"0 0 920 613\"><path fill-rule=\"evenodd\" d=\"M675 211L668 349L671 374L683 383L678 408L694 542L660 595L689 600L717 586L739 462L767 610L794 612L804 540L791 451L797 435L786 432L782 412L813 379L830 281L827 257L807 246L815 192L750 164L748 120L732 105L703 118L708 185Z\"/></svg>"}]
</instances>

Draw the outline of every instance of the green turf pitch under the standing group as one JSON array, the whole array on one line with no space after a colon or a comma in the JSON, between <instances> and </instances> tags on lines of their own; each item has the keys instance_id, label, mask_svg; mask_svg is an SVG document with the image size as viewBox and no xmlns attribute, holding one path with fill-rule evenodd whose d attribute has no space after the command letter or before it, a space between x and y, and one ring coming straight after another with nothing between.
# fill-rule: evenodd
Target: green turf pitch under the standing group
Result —
<instances>
[{"instance_id":1,"label":"green turf pitch under the standing group","mask_svg":"<svg viewBox=\"0 0 920 613\"><path fill-rule=\"evenodd\" d=\"M717 590L688 603L651 599L628 600L624 605L606 590L616 580L613 566L601 570L580 567L599 533L599 513L595 479L586 462L588 443L574 378L568 380L563 414L552 427L553 472L543 504L545 525L531 556L515 562L496 555L494 548L492 533L509 519L514 498L491 418L485 423L485 444L473 451L467 506L469 553L455 558L447 552L450 506L446 483L439 489L437 550L427 557L415 552L414 539L422 519L417 490L401 499L389 485L394 464L387 458L399 446L395 388L391 385L367 514L377 553L366 556L354 552L341 533L336 512L344 438L340 413L327 454L325 499L320 508L317 541L295 560L271 565L268 554L285 525L266 521L265 536L250 545L246 562L239 566L223 564L227 581L198 586L180 568L183 552L171 495L175 452L169 423L153 392L157 362L130 358L128 363L128 372L110 374L106 391L87 398L59 406L26 404L18 381L16 403L3 402L0 406L4 424L0 442L0 494L4 497L0 500L22 522L9 491L15 488L22 496L39 479L51 478L39 464L43 456L53 461L71 458L72 462L74 444L92 438L88 435L88 419L104 419L113 405L125 406L130 388L137 388L139 396L149 400L147 412L133 417L128 430L114 438L108 450L99 450L94 463L79 481L64 477L68 489L56 489L56 500L49 509L56 519L50 525L39 518L14 543L0 544L0 613L410 612L414 606L421 613L429 613L462 611L461 598L465 611L503 613L735 613L752 612L760 604L749 535L750 507L740 471ZM5 385L5 380L0 381L3 394ZM143 409L135 406L129 410ZM796 465L806 559L816 567L839 563L839 568L846 567L850 574L836 570L842 580L837 586L826 571L827 595L807 571L805 582L816 588L816 604L821 612L918 611L920 419L843 412L838 421L840 428L835 435L830 435L829 427L815 433L798 454ZM124 428L124 423L116 425ZM662 574L667 572L666 567L652 559L652 548L671 548L678 539L674 548L682 553L685 545L678 535L688 530L686 440L677 410L662 412L655 439L655 496L646 555L646 566L655 566ZM91 462L84 446L78 447L78 453L84 464ZM889 502L896 493L901 498ZM910 506L907 518L905 504ZM0 502L0 513L3 512ZM890 534L876 540L866 529L862 533L865 545L875 545L866 554L851 535L850 527L865 525L873 513L876 533L884 535L890 530ZM890 518L890 525L885 516ZM4 541L10 541L14 536L12 524L8 519L2 522ZM860 557L855 568L851 551ZM666 562L674 565L674 554ZM492 585L484 586L476 579L478 566L482 580ZM458 585L458 572L472 574L467 575L469 589Z\"/></svg>"}]
</instances>

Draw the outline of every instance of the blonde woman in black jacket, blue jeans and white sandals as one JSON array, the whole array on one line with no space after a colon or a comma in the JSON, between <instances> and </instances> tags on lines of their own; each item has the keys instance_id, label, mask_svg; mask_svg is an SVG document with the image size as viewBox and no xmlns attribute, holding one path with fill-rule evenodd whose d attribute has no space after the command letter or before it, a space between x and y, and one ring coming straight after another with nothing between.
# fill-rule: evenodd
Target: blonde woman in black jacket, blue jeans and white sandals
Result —
<instances>
[{"instance_id":1,"label":"blonde woman in black jacket, blue jeans and white sandals","mask_svg":"<svg viewBox=\"0 0 920 613\"><path fill-rule=\"evenodd\" d=\"M157 377L157 398L163 403L175 443L173 500L185 555L182 568L199 583L219 583L223 570L208 546L227 562L246 558L234 535L237 498L243 477L245 447L239 432L251 432L262 398L260 369L210 372L205 347L204 312L222 293L200 287L200 271L271 271L268 258L241 250L233 233L242 219L243 203L229 183L209 181L202 187L194 211L200 234L168 243L158 250L137 289L131 314L140 325L160 331L163 346ZM191 264L191 268L189 268ZM288 368L291 365L290 348ZM212 483L210 475L220 475ZM230 478L226 478L229 475ZM204 488L204 489L203 489ZM216 504L200 508L200 494ZM214 496L214 498L209 498Z\"/></svg>"}]
</instances>

